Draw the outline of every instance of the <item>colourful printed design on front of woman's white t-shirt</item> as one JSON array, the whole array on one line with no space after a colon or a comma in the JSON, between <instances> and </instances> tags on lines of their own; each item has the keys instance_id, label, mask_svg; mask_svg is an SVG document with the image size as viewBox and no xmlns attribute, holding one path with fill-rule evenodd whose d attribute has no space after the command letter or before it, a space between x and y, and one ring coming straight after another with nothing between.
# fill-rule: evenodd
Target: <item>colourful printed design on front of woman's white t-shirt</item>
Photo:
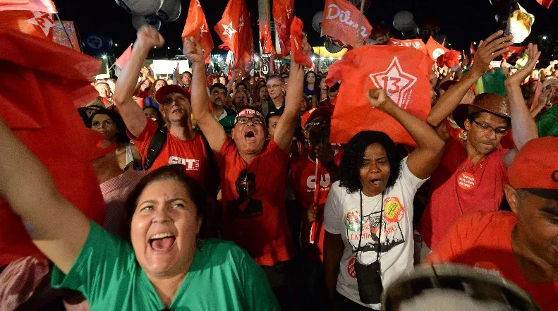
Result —
<instances>
[{"instance_id":1,"label":"colourful printed design on front of woman's white t-shirt","mask_svg":"<svg viewBox=\"0 0 558 311\"><path fill-rule=\"evenodd\" d=\"M358 252L359 262L364 264L375 262L378 250L389 252L395 246L405 243L405 237L399 224L405 215L405 208L399 198L384 198L383 210L381 233L380 211L376 210L363 217L360 217L360 209L351 209L345 214L344 222L348 241L351 244L352 252ZM360 248L358 247L359 241Z\"/></svg>"}]
</instances>

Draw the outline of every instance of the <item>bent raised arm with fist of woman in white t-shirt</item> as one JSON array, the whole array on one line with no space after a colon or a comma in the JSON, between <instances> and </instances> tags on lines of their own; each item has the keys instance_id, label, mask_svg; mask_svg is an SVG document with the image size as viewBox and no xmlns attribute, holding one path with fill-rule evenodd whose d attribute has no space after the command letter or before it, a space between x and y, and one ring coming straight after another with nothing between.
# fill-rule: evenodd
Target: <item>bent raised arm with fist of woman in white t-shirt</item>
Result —
<instances>
[{"instance_id":1,"label":"bent raised arm with fist of woman in white t-shirt","mask_svg":"<svg viewBox=\"0 0 558 311\"><path fill-rule=\"evenodd\" d=\"M426 179L434 173L442 158L444 141L427 123L399 108L387 97L383 89L370 90L368 102L374 108L389 114L407 130L418 147L409 154L407 166L414 176Z\"/></svg>"}]
</instances>

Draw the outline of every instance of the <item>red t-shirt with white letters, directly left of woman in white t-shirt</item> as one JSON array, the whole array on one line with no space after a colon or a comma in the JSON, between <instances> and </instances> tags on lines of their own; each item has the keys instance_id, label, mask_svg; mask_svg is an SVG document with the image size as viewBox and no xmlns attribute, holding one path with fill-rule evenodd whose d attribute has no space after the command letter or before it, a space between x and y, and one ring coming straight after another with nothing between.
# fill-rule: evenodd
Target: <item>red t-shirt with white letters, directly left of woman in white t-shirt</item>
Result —
<instances>
[{"instance_id":1,"label":"red t-shirt with white letters, directly left of woman in white t-shirt","mask_svg":"<svg viewBox=\"0 0 558 311\"><path fill-rule=\"evenodd\" d=\"M319 163L318 174L320 175L320 193L318 193L318 219L317 234L315 244L310 244L310 228L312 223L303 218L301 228L301 244L305 255L311 260L317 262L324 261L324 207L327 200L327 194L332 187L332 180L327 170ZM291 159L291 184L294 195L298 203L304 208L308 208L314 204L315 183L316 183L316 163L308 157L308 150L298 157Z\"/></svg>"}]
</instances>

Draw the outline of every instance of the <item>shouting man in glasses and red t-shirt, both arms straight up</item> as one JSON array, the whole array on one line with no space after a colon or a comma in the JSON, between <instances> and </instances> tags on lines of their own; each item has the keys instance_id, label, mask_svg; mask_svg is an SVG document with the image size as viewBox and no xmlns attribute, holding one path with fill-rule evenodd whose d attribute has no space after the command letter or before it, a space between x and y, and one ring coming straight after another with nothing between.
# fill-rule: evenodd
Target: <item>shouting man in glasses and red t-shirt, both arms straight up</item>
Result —
<instances>
[{"instance_id":1,"label":"shouting man in glasses and red t-shirt, both arms straight up","mask_svg":"<svg viewBox=\"0 0 558 311\"><path fill-rule=\"evenodd\" d=\"M308 42L303 46L310 51ZM291 276L284 275L284 268L294 256L285 192L289 151L302 102L303 68L291 61L285 110L269 142L264 116L250 108L236 116L231 139L210 111L199 42L186 38L183 51L193 63L190 87L194 116L217 153L221 171L223 237L248 250L277 293L277 288L289 286Z\"/></svg>"}]
</instances>

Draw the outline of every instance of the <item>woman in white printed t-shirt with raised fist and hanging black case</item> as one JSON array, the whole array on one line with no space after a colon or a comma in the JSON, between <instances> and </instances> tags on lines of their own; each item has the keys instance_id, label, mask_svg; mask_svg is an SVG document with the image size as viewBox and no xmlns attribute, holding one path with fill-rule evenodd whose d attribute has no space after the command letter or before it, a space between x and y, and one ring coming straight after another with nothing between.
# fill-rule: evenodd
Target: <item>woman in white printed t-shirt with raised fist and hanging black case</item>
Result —
<instances>
[{"instance_id":1,"label":"woman in white printed t-shirt with raised fist and hanging black case","mask_svg":"<svg viewBox=\"0 0 558 311\"><path fill-rule=\"evenodd\" d=\"M368 102L401 123L418 147L399 161L392 139L371 130L346 146L340 181L325 205L325 279L337 310L380 310L383 287L412 269L413 197L444 147L427 123L384 90L370 90Z\"/></svg>"}]
</instances>

